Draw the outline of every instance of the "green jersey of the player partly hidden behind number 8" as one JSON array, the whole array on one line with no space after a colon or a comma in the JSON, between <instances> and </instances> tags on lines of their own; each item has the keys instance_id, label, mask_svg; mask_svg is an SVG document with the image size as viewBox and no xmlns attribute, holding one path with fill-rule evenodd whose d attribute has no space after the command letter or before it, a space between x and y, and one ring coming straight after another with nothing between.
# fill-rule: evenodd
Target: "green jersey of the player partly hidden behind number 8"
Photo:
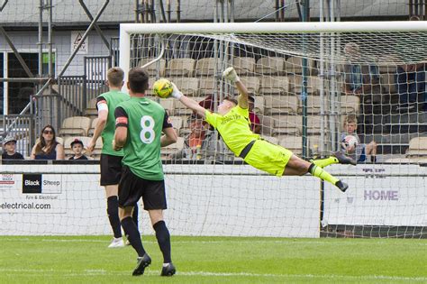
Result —
<instances>
[{"instance_id":1,"label":"green jersey of the player partly hidden behind number 8","mask_svg":"<svg viewBox=\"0 0 427 284\"><path fill-rule=\"evenodd\" d=\"M104 127L103 133L101 133L101 137L103 138L103 154L108 154L112 156L120 156L123 157L123 150L114 151L112 142L114 140L114 132L115 132L115 118L114 118L114 110L117 105L122 103L125 100L129 99L129 95L123 93L121 91L109 91L104 94L98 96L98 103L101 98L104 97L106 104L108 105L108 117Z\"/></svg>"}]
</instances>

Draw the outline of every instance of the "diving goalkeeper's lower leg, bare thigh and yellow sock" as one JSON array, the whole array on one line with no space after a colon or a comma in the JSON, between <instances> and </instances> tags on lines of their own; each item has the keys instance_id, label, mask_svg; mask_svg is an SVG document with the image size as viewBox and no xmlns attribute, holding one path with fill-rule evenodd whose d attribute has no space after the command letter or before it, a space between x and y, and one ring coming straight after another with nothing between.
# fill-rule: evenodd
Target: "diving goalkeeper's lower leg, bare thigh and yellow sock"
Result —
<instances>
[{"instance_id":1,"label":"diving goalkeeper's lower leg, bare thigh and yellow sock","mask_svg":"<svg viewBox=\"0 0 427 284\"><path fill-rule=\"evenodd\" d=\"M340 179L333 177L326 170L316 166L313 163L303 160L295 155L292 155L291 158L287 161L283 175L301 176L307 172L309 172L314 177L317 177L319 179L323 179L332 183L332 185L336 186L337 188L340 188L341 191L345 191L348 188L347 184L343 183Z\"/></svg>"}]
</instances>

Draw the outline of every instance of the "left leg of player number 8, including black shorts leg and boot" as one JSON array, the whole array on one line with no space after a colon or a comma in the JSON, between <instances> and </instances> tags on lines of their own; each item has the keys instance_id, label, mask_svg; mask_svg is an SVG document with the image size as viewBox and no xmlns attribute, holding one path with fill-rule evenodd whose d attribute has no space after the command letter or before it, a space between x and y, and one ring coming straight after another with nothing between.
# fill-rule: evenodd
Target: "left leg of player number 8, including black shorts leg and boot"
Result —
<instances>
[{"instance_id":1,"label":"left leg of player number 8, including black shorts leg and boot","mask_svg":"<svg viewBox=\"0 0 427 284\"><path fill-rule=\"evenodd\" d=\"M133 276L142 275L145 268L151 263L151 258L142 245L140 231L132 219L133 206L141 198L142 189L142 179L133 175L128 167L123 167L123 179L119 184L119 214L124 234L135 252L138 253L137 265L132 272Z\"/></svg>"}]
</instances>

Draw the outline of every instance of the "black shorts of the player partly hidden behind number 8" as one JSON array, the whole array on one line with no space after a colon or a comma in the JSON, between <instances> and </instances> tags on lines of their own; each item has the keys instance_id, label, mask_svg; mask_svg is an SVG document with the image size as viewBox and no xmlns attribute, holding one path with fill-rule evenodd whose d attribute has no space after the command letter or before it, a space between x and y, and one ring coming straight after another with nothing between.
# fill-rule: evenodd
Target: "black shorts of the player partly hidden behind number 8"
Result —
<instances>
[{"instance_id":1,"label":"black shorts of the player partly hidden behind number 8","mask_svg":"<svg viewBox=\"0 0 427 284\"><path fill-rule=\"evenodd\" d=\"M120 156L101 154L101 186L118 185L122 177Z\"/></svg>"}]
</instances>

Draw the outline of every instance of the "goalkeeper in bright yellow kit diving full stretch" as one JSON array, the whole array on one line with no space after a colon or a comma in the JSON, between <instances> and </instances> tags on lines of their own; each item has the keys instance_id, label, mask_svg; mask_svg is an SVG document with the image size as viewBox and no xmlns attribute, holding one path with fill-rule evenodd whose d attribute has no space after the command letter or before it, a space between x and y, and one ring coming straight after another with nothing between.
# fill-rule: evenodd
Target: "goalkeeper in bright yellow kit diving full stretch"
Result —
<instances>
[{"instance_id":1,"label":"goalkeeper in bright yellow kit diving full stretch","mask_svg":"<svg viewBox=\"0 0 427 284\"><path fill-rule=\"evenodd\" d=\"M239 90L238 100L232 96L226 96L223 103L218 105L218 113L211 113L198 105L193 99L184 96L174 86L172 96L177 98L186 107L194 110L197 115L201 115L204 120L213 125L221 134L227 147L236 155L241 157L252 167L261 169L277 177L285 176L302 176L309 172L313 176L326 180L332 185L340 188L345 192L349 186L340 179L333 177L323 169L333 163L353 164L356 162L346 157L340 152L335 153L323 160L303 160L276 144L263 140L259 134L250 131L250 120L248 111L248 91L241 83L239 76L233 68L223 71L223 78L235 83Z\"/></svg>"}]
</instances>

